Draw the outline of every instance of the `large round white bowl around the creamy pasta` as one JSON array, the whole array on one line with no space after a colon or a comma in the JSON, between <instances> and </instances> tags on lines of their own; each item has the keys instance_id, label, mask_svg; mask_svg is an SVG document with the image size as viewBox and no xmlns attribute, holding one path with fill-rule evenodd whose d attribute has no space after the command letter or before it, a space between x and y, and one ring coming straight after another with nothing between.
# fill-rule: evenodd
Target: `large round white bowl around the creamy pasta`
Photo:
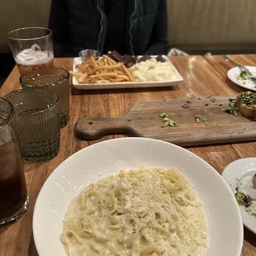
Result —
<instances>
[{"instance_id":1,"label":"large round white bowl around the creamy pasta","mask_svg":"<svg viewBox=\"0 0 256 256\"><path fill-rule=\"evenodd\" d=\"M64 256L60 242L70 201L89 183L121 168L178 168L192 183L204 207L210 246L205 256L240 256L243 223L230 187L211 165L196 154L161 140L122 138L106 140L73 154L46 180L36 200L33 233L40 256Z\"/></svg>"}]
</instances>

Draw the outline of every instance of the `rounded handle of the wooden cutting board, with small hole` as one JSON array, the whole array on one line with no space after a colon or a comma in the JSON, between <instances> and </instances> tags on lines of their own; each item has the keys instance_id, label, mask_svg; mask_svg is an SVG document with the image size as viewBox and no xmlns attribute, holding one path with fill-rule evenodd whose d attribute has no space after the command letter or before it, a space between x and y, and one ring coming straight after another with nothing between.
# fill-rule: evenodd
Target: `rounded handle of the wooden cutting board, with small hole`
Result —
<instances>
[{"instance_id":1,"label":"rounded handle of the wooden cutting board, with small hole","mask_svg":"<svg viewBox=\"0 0 256 256\"><path fill-rule=\"evenodd\" d=\"M143 137L140 132L129 126L129 121L118 118L84 117L74 126L74 135L79 140L97 140L105 135L117 134Z\"/></svg>"}]
</instances>

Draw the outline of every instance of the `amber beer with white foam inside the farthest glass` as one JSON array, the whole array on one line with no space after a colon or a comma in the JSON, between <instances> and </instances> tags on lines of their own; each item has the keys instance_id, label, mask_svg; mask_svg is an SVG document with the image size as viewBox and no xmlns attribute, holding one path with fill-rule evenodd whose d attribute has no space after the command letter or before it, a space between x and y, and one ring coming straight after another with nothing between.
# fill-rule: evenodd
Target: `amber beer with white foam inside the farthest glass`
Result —
<instances>
[{"instance_id":1,"label":"amber beer with white foam inside the farthest glass","mask_svg":"<svg viewBox=\"0 0 256 256\"><path fill-rule=\"evenodd\" d=\"M28 52L28 50L22 50L21 53L19 53L15 58L21 75L33 69L51 68L54 66L53 53L46 51L36 51L34 53L31 52L30 55L24 54Z\"/></svg>"}]
</instances>

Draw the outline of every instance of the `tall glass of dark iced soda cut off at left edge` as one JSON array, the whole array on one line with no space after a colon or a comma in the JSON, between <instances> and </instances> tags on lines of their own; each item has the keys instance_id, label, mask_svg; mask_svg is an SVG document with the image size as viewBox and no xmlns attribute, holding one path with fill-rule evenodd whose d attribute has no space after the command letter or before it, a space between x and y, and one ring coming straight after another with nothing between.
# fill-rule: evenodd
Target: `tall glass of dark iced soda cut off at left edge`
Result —
<instances>
[{"instance_id":1,"label":"tall glass of dark iced soda cut off at left edge","mask_svg":"<svg viewBox=\"0 0 256 256\"><path fill-rule=\"evenodd\" d=\"M0 97L0 226L18 220L28 203L14 108Z\"/></svg>"}]
</instances>

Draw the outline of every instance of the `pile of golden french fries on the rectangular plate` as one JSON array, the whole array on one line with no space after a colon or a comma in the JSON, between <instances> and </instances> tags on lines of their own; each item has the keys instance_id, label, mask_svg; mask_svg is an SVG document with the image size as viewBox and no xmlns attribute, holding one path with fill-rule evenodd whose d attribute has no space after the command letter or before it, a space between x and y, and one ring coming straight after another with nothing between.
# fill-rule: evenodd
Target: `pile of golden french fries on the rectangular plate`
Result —
<instances>
[{"instance_id":1,"label":"pile of golden french fries on the rectangular plate","mask_svg":"<svg viewBox=\"0 0 256 256\"><path fill-rule=\"evenodd\" d=\"M79 83L123 83L135 82L130 70L123 63L103 55L102 59L88 59L83 64L77 65L77 71L70 73L77 78Z\"/></svg>"}]
</instances>

